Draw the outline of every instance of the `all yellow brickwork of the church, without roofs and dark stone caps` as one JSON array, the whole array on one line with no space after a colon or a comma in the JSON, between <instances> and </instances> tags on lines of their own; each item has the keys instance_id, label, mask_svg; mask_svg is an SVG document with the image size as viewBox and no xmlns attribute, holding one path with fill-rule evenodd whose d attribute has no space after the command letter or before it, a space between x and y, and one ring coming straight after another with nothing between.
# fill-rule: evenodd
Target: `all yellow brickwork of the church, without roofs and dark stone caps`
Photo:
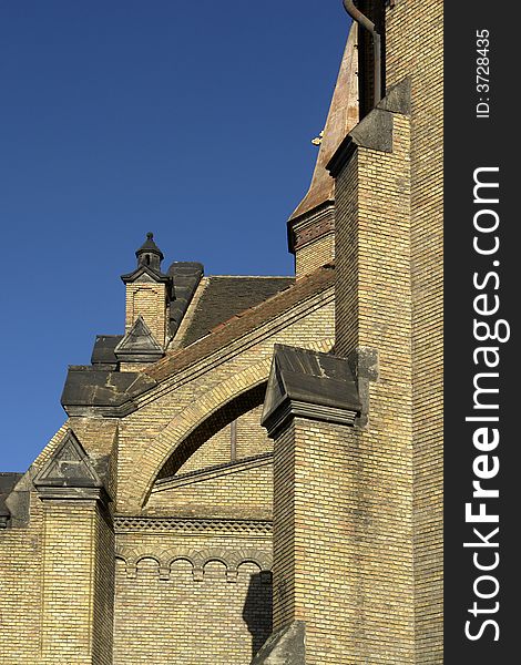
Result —
<instances>
[{"instance_id":1,"label":"all yellow brickwork of the church, without roofs and dark stone caps","mask_svg":"<svg viewBox=\"0 0 521 665\"><path fill-rule=\"evenodd\" d=\"M387 83L411 76L410 143L409 121L395 115L392 154L358 150L336 193L336 350L379 351L369 423L346 434L336 426L298 420L276 452L282 474L275 479L275 523L284 538L276 551L275 622L307 622L311 664L442 662L442 3L390 4ZM334 249L330 235L302 247L297 275L328 262ZM127 286L126 330L140 314L164 344L164 285ZM274 342L329 350L333 317L329 291L196 362L140 398L139 410L121 422L118 441L114 422L72 419L94 458L112 454L110 489L119 488L118 510L127 515L265 510L269 467L147 497L162 464L204 418L266 380ZM237 421L239 458L269 449L257 417L255 405ZM229 452L229 428L214 433L184 470L225 461L226 448ZM31 502L29 526L0 533L0 621L9 635L0 641L0 663L108 665L111 529L92 502L50 501L45 521L40 499L33 494ZM285 522L292 508L294 520ZM241 549L270 549L266 536L226 535L217 542L143 532L118 539L130 550L157 555L170 546L222 549L232 559ZM264 608L268 603L270 587L259 570L244 562L235 576L233 566L210 561L198 580L192 564L177 560L162 579L157 563L145 559L132 577L119 562L114 663L248 663L269 632L267 611L251 613L252 598Z\"/></svg>"}]
</instances>

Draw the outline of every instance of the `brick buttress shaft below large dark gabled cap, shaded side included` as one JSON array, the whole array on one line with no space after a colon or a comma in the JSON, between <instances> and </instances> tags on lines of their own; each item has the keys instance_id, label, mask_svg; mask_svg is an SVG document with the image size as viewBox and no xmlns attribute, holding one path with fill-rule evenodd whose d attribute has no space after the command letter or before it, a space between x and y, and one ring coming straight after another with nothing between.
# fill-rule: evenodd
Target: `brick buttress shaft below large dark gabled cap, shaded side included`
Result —
<instances>
[{"instance_id":1,"label":"brick buttress shaft below large dark gabled cap, shaded side included","mask_svg":"<svg viewBox=\"0 0 521 665\"><path fill-rule=\"evenodd\" d=\"M369 654L392 662L359 645L370 608L358 564L358 467L345 426L295 418L275 441L274 627L306 623L307 665Z\"/></svg>"}]
</instances>

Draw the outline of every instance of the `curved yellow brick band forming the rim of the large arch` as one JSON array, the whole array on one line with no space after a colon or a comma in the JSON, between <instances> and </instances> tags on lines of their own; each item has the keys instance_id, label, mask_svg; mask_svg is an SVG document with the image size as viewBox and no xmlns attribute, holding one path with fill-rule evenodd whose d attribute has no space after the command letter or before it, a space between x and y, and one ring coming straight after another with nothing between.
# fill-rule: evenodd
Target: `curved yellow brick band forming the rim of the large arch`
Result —
<instances>
[{"instance_id":1,"label":"curved yellow brick band forming the rim of the large arch","mask_svg":"<svg viewBox=\"0 0 521 665\"><path fill-rule=\"evenodd\" d=\"M147 448L140 462L142 468L140 477L144 481L140 499L141 507L146 504L152 488L160 478L165 464L175 454L175 451L183 446L185 440L210 418L215 416L216 421L218 421L219 411L222 412L223 409L241 399L242 396L247 396L263 383L266 383L270 364L272 359L265 358L260 362L234 375L197 398L196 401L168 422ZM192 441L192 444L194 444L194 441ZM202 441L200 441L200 444L202 444Z\"/></svg>"}]
</instances>

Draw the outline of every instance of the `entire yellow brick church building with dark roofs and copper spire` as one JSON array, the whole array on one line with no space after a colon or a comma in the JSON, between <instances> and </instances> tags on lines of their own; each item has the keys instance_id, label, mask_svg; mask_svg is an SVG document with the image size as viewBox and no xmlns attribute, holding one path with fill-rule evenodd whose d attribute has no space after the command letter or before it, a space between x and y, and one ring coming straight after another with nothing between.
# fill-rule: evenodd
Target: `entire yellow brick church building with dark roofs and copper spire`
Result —
<instances>
[{"instance_id":1,"label":"entire yellow brick church building with dark roofs and copper spire","mask_svg":"<svg viewBox=\"0 0 521 665\"><path fill-rule=\"evenodd\" d=\"M295 277L147 234L0 474L1 665L442 662L442 2L344 4Z\"/></svg>"}]
</instances>

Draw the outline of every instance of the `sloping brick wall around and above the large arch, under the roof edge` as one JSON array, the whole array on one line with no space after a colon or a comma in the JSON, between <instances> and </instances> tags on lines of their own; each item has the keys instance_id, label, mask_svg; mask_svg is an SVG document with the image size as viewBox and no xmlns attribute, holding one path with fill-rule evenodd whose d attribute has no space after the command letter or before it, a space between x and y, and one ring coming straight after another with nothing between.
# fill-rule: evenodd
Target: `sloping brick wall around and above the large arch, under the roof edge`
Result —
<instances>
[{"instance_id":1,"label":"sloping brick wall around and above the large arch, under the roof edge","mask_svg":"<svg viewBox=\"0 0 521 665\"><path fill-rule=\"evenodd\" d=\"M328 350L333 324L329 289L264 330L256 329L187 371L174 374L165 381L168 392L163 393L162 385L151 391L146 402L120 424L118 512L139 513L173 450L216 409L267 380L275 342ZM252 406L257 405L247 405L245 411Z\"/></svg>"}]
</instances>

